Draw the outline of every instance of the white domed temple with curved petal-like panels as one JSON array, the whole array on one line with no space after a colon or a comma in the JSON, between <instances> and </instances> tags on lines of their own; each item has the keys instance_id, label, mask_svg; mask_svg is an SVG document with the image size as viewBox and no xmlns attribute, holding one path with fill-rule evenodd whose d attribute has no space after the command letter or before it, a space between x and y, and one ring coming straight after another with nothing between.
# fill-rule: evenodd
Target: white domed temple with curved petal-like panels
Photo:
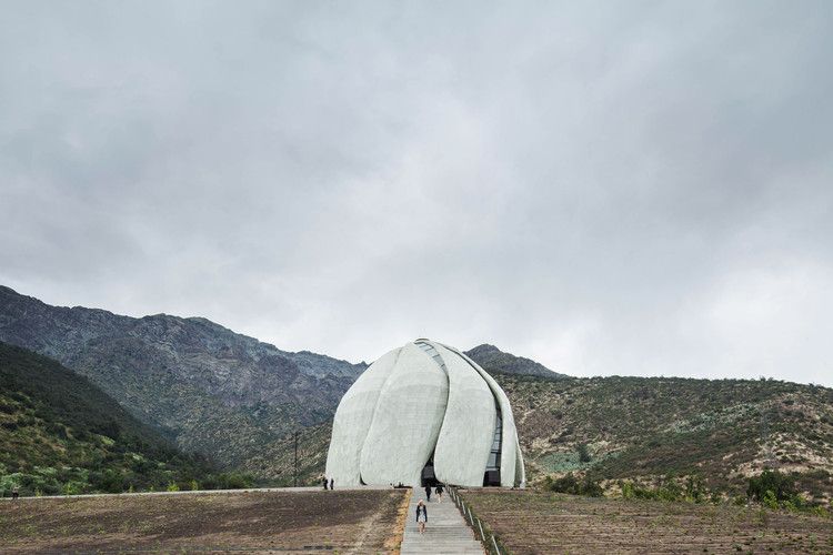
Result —
<instances>
[{"instance_id":1,"label":"white domed temple with curved petal-like panels","mask_svg":"<svg viewBox=\"0 0 833 555\"><path fill-rule=\"evenodd\" d=\"M525 485L506 394L463 353L424 339L383 355L344 394L327 476L342 485Z\"/></svg>"}]
</instances>

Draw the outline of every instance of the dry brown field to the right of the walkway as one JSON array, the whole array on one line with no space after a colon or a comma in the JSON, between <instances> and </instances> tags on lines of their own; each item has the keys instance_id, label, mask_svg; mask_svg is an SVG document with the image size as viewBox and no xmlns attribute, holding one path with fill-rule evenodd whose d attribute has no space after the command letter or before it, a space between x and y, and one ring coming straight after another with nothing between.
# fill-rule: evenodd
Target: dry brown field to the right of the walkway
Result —
<instances>
[{"instance_id":1,"label":"dry brown field to the right of the walkway","mask_svg":"<svg viewBox=\"0 0 833 555\"><path fill-rule=\"evenodd\" d=\"M515 555L833 552L833 523L809 515L536 491L462 496Z\"/></svg>"}]
</instances>

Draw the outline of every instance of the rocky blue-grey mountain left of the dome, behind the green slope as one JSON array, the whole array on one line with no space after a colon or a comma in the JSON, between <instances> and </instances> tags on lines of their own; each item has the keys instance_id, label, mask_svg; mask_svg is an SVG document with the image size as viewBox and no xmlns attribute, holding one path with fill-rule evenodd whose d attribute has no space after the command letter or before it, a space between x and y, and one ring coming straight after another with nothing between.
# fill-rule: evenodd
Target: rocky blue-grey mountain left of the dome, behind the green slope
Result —
<instances>
[{"instance_id":1,"label":"rocky blue-grey mountain left of the dome, behind the green slope","mask_svg":"<svg viewBox=\"0 0 833 555\"><path fill-rule=\"evenodd\" d=\"M222 468L330 420L367 367L281 351L201 317L51 306L4 286L0 341L58 360Z\"/></svg>"}]
</instances>

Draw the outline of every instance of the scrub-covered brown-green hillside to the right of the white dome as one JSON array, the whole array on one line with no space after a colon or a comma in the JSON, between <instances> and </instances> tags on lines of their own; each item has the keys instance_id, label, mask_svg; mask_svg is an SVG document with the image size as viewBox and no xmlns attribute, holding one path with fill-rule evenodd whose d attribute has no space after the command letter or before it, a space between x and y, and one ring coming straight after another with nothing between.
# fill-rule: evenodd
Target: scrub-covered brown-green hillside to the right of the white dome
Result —
<instances>
[{"instance_id":1,"label":"scrub-covered brown-green hillside to the right of the white dome","mask_svg":"<svg viewBox=\"0 0 833 555\"><path fill-rule=\"evenodd\" d=\"M833 492L833 390L779 381L495 375L533 481L588 473L648 483L696 477L736 495L765 467Z\"/></svg>"}]
</instances>

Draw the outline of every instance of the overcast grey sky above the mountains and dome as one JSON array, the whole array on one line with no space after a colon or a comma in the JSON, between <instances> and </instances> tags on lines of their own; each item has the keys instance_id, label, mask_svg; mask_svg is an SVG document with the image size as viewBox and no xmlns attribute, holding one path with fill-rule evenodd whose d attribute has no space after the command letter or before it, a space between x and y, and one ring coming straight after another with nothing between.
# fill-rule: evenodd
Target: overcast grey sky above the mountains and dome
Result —
<instances>
[{"instance_id":1,"label":"overcast grey sky above the mountains and dome","mask_svg":"<svg viewBox=\"0 0 833 555\"><path fill-rule=\"evenodd\" d=\"M829 0L0 6L21 293L833 385Z\"/></svg>"}]
</instances>

